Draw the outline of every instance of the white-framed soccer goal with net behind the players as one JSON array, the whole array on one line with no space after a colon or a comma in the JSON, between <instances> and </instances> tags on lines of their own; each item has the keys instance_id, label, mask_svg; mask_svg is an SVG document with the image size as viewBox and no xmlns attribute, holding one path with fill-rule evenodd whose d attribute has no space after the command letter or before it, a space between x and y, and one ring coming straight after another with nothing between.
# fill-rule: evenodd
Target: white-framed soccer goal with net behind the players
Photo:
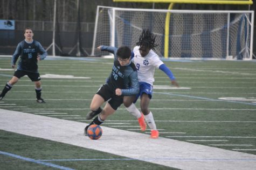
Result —
<instances>
[{"instance_id":1,"label":"white-framed soccer goal with net behind the players","mask_svg":"<svg viewBox=\"0 0 256 170\"><path fill-rule=\"evenodd\" d=\"M170 15L166 23L166 16ZM92 56L100 45L133 49L143 28L156 35L156 53L186 59L250 60L254 11L126 9L98 6ZM165 35L169 29L169 35ZM165 36L168 36L166 41ZM166 45L168 45L166 47ZM165 51L167 50L167 51ZM166 53L167 52L167 53Z\"/></svg>"}]
</instances>

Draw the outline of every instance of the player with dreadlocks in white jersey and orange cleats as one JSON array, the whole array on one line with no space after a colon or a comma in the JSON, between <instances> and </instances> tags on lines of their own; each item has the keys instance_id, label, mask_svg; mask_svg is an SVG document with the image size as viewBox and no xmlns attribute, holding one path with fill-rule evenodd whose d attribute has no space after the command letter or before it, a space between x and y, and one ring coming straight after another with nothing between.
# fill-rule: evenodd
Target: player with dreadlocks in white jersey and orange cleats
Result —
<instances>
[{"instance_id":1,"label":"player with dreadlocks in white jersey and orange cleats","mask_svg":"<svg viewBox=\"0 0 256 170\"><path fill-rule=\"evenodd\" d=\"M156 36L148 29L143 29L140 35L139 42L133 49L132 58L137 68L138 79L140 83L140 93L136 96L125 96L123 104L126 109L134 116L137 117L141 130L146 130L147 124L151 129L151 138L158 138L159 132L156 128L154 117L149 110L149 102L153 93L153 82L155 68L162 70L171 80L171 84L178 87L171 70L160 60L158 55L153 51L157 47L155 43ZM136 108L134 103L138 98L141 98L141 112ZM147 124L144 122L146 119Z\"/></svg>"}]
</instances>

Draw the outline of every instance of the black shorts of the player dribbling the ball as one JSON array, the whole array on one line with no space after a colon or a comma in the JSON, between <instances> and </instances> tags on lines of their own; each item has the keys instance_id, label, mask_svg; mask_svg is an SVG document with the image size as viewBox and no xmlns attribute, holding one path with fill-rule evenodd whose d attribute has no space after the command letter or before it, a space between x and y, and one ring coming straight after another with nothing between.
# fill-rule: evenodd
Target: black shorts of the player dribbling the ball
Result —
<instances>
[{"instance_id":1,"label":"black shorts of the player dribbling the ball","mask_svg":"<svg viewBox=\"0 0 256 170\"><path fill-rule=\"evenodd\" d=\"M115 95L115 90L110 88L107 84L102 85L96 94L99 94L105 101L108 100L109 105L114 110L117 110L123 103L123 96Z\"/></svg>"}]
</instances>

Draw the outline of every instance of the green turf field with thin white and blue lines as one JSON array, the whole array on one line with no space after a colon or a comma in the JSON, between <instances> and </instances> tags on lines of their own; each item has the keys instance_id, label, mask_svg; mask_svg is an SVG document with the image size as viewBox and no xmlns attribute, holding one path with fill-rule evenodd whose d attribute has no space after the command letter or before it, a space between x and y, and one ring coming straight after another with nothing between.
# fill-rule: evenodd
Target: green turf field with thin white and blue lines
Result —
<instances>
[{"instance_id":1,"label":"green turf field with thin white and blue lines","mask_svg":"<svg viewBox=\"0 0 256 170\"><path fill-rule=\"evenodd\" d=\"M49 57L39 62L42 98L46 104L37 104L34 84L23 77L0 101L0 108L89 123L85 116L91 99L108 77L113 60L75 59ZM1 91L13 75L10 61L10 57L0 57ZM164 63L182 88L168 89L170 80L161 70L156 70L150 109L161 137L256 154L255 61ZM54 78L56 75L58 78ZM140 132L135 117L123 106L102 126ZM0 144L0 169L58 168L13 158L1 151L33 160L66 159L51 163L71 169L92 169L95 165L98 169L171 169L3 130L0 130Z\"/></svg>"}]
</instances>

